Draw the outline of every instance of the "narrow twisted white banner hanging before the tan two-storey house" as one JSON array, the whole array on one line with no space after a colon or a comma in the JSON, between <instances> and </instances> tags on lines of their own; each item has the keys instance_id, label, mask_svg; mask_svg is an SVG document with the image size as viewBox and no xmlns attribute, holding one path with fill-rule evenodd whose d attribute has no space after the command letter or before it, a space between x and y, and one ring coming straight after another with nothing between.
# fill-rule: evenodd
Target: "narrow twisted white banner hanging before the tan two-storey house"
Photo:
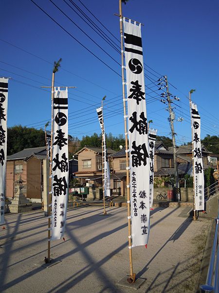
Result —
<instances>
[{"instance_id":1,"label":"narrow twisted white banner hanging before the tan two-storey house","mask_svg":"<svg viewBox=\"0 0 219 293\"><path fill-rule=\"evenodd\" d=\"M97 108L96 111L97 111L100 128L101 128L102 136L103 136L104 196L110 196L110 166L109 166L108 154L107 154L106 135L105 135L105 128L103 124L102 107Z\"/></svg>"}]
</instances>

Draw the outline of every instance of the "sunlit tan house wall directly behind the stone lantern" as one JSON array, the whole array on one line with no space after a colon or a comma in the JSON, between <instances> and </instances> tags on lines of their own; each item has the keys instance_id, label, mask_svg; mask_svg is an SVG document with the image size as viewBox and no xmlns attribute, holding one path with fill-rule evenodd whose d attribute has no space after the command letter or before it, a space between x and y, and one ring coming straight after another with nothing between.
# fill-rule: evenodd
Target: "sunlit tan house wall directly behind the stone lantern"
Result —
<instances>
[{"instance_id":1,"label":"sunlit tan house wall directly behind the stone lantern","mask_svg":"<svg viewBox=\"0 0 219 293\"><path fill-rule=\"evenodd\" d=\"M21 172L15 172L15 165L22 165ZM6 196L12 198L15 196L17 191L17 184L15 183L18 180L19 175L24 181L27 181L27 164L23 160L13 160L7 161L7 175L6 175ZM26 182L23 183L24 188L22 192L27 196Z\"/></svg>"}]
</instances>

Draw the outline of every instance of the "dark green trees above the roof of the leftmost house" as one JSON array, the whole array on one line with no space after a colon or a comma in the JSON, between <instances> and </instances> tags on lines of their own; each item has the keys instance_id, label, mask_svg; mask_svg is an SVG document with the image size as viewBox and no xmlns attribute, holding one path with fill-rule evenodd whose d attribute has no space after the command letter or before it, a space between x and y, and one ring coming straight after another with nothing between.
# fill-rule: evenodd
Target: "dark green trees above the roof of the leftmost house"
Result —
<instances>
[{"instance_id":1,"label":"dark green trees above the roof of the leftmost house","mask_svg":"<svg viewBox=\"0 0 219 293\"><path fill-rule=\"evenodd\" d=\"M26 126L8 127L7 155L10 156L24 148L45 146L45 132L42 129Z\"/></svg>"}]
</instances>

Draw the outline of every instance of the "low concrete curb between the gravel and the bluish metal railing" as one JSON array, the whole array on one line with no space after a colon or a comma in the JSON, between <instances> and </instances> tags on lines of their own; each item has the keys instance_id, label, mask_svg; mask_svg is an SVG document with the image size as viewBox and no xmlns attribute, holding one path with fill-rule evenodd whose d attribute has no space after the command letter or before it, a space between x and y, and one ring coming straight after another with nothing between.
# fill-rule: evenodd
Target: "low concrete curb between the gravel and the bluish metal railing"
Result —
<instances>
[{"instance_id":1,"label":"low concrete curb between the gravel and the bluish metal railing","mask_svg":"<svg viewBox=\"0 0 219 293\"><path fill-rule=\"evenodd\" d=\"M203 251L202 259L201 259L201 267L199 272L199 278L196 284L196 293L199 293L199 286L206 283L207 273L208 273L208 266L211 256L211 249L213 245L213 239L215 234L215 219L212 220L211 227L208 230L208 235L205 243L205 248Z\"/></svg>"}]
</instances>

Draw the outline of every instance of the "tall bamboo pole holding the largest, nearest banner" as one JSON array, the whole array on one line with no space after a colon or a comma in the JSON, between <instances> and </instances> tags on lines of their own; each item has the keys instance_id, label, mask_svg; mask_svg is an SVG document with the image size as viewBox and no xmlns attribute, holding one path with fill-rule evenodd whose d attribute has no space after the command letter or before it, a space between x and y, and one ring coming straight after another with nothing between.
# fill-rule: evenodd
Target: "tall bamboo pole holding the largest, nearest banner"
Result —
<instances>
[{"instance_id":1,"label":"tall bamboo pole holding the largest, nearest banner","mask_svg":"<svg viewBox=\"0 0 219 293\"><path fill-rule=\"evenodd\" d=\"M121 56L122 56L122 83L123 83L123 108L124 108L124 124L126 138L126 184L127 184L127 208L128 208L128 250L130 276L127 279L129 283L135 282L135 273L132 267L132 241L131 241L131 211L130 211L130 180L129 180L129 158L128 158L128 132L127 132L127 114L126 114L126 95L125 95L125 78L124 78L124 50L123 50L123 17L122 17L122 0L119 0L119 17L120 17L120 36L121 36Z\"/></svg>"}]
</instances>

